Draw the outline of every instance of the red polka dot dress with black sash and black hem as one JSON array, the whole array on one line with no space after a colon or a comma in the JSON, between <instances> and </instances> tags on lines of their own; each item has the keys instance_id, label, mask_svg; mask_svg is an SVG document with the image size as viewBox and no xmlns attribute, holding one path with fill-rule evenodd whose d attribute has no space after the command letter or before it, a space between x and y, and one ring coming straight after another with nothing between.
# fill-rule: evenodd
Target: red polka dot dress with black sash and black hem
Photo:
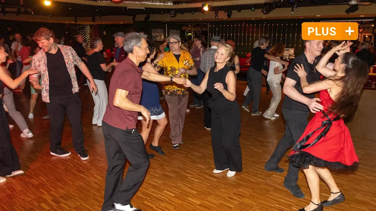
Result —
<instances>
[{"instance_id":1,"label":"red polka dot dress with black sash and black hem","mask_svg":"<svg viewBox=\"0 0 376 211\"><path fill-rule=\"evenodd\" d=\"M332 170L357 169L359 159L349 128L337 115L327 114L328 107L334 103L327 90L320 92L320 99L324 109L309 122L290 153L290 162L303 169L309 165Z\"/></svg>"}]
</instances>

